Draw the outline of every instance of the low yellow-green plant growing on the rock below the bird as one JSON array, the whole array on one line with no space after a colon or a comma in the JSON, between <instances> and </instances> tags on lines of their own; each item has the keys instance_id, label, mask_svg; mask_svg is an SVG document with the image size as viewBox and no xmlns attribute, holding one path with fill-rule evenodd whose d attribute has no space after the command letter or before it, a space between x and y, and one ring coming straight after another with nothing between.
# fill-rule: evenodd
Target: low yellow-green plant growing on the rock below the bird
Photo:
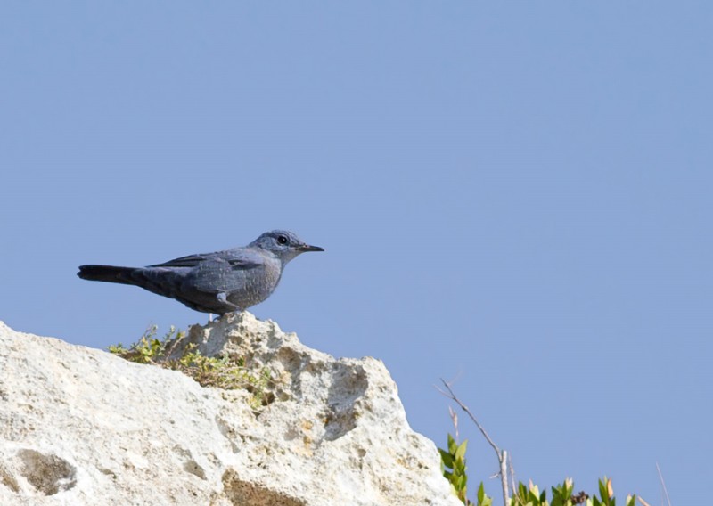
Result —
<instances>
[{"instance_id":1,"label":"low yellow-green plant growing on the rock below the bird","mask_svg":"<svg viewBox=\"0 0 713 506\"><path fill-rule=\"evenodd\" d=\"M180 357L169 358L180 341L184 339L185 332L176 331L171 326L162 338L157 338L157 331L158 327L152 325L130 347L124 347L119 343L110 346L109 351L129 362L158 365L164 369L183 372L186 376L196 380L202 387L225 390L245 388L251 394L250 407L253 409L258 409L271 400L272 397L268 396L267 388L274 381L266 367L255 371L246 366L242 357L201 355L193 343L184 347L183 355Z\"/></svg>"}]
</instances>

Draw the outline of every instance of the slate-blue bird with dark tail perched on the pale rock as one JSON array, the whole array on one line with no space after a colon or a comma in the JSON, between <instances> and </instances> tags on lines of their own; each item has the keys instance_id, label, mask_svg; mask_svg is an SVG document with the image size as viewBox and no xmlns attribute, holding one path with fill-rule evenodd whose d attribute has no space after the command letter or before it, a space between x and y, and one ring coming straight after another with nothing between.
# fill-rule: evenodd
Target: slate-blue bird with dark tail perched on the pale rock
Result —
<instances>
[{"instance_id":1,"label":"slate-blue bird with dark tail perched on the pale rock","mask_svg":"<svg viewBox=\"0 0 713 506\"><path fill-rule=\"evenodd\" d=\"M295 233L273 230L245 247L179 257L146 267L80 265L83 280L135 285L175 298L195 311L242 313L272 295L285 265L310 246Z\"/></svg>"}]
</instances>

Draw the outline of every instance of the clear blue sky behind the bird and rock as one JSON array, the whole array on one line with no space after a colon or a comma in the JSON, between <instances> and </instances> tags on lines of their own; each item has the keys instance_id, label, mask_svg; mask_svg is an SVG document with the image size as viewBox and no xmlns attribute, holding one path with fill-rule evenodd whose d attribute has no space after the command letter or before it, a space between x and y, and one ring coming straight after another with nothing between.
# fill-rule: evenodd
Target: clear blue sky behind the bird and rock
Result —
<instances>
[{"instance_id":1,"label":"clear blue sky behind the bird and rock","mask_svg":"<svg viewBox=\"0 0 713 506\"><path fill-rule=\"evenodd\" d=\"M372 355L443 445L660 504L713 478L709 1L6 2L0 319L107 347L205 322L83 282L288 228L253 308ZM471 482L497 494L465 420Z\"/></svg>"}]
</instances>

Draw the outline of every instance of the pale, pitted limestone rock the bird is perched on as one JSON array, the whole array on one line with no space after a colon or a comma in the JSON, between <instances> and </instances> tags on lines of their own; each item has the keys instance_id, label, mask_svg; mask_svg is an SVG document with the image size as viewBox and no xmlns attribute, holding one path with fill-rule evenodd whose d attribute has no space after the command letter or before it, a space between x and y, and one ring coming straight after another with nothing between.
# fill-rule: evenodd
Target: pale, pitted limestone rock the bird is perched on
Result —
<instances>
[{"instance_id":1,"label":"pale, pitted limestone rock the bird is perched on","mask_svg":"<svg viewBox=\"0 0 713 506\"><path fill-rule=\"evenodd\" d=\"M264 405L0 322L0 504L461 504L381 362L336 360L248 313L188 341L269 370Z\"/></svg>"}]
</instances>

